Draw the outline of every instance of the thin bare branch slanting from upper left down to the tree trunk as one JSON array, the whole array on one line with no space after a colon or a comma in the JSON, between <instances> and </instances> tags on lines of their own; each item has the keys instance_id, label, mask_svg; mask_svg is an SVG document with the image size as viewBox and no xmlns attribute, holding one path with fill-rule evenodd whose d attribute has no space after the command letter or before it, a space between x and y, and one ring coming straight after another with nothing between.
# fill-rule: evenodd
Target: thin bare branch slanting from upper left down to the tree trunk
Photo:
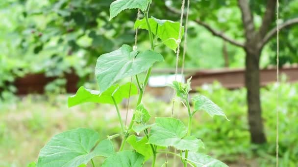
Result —
<instances>
[{"instance_id":1,"label":"thin bare branch slanting from upper left down to the tree trunk","mask_svg":"<svg viewBox=\"0 0 298 167\"><path fill-rule=\"evenodd\" d=\"M210 31L214 36L220 37L222 38L224 41L229 42L233 45L236 46L240 46L240 47L244 47L244 43L242 42L238 42L234 39L230 39L229 37L227 37L223 32L219 32L217 30L215 30L214 28L212 28L210 25L208 25L207 23L200 21L199 19L195 20L199 25L203 26L204 28L206 28L208 31Z\"/></svg>"}]
</instances>

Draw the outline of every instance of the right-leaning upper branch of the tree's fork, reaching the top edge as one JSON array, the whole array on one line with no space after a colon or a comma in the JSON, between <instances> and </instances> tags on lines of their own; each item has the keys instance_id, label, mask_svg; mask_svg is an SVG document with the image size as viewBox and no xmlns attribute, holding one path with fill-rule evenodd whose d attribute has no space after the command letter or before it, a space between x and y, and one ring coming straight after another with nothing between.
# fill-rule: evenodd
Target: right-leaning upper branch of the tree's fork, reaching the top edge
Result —
<instances>
[{"instance_id":1,"label":"right-leaning upper branch of the tree's fork, reaching the top edge","mask_svg":"<svg viewBox=\"0 0 298 167\"><path fill-rule=\"evenodd\" d=\"M276 0L267 0L266 12L263 16L262 25L258 32L258 35L261 39L263 39L266 36L270 28L270 25L274 19L275 7Z\"/></svg>"}]
</instances>

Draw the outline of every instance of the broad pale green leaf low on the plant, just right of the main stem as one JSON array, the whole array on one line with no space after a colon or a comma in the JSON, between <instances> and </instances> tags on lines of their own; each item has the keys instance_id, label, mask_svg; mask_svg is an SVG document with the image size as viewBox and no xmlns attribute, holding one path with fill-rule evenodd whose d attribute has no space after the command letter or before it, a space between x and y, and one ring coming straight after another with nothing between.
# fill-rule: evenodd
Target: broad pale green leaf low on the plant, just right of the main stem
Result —
<instances>
[{"instance_id":1,"label":"broad pale green leaf low on the plant, just right of the main stem","mask_svg":"<svg viewBox=\"0 0 298 167\"><path fill-rule=\"evenodd\" d=\"M148 143L157 146L174 146L180 150L190 151L198 151L203 147L201 140L194 136L185 137L186 134L187 128L180 120L156 118L156 125L151 127Z\"/></svg>"}]
</instances>

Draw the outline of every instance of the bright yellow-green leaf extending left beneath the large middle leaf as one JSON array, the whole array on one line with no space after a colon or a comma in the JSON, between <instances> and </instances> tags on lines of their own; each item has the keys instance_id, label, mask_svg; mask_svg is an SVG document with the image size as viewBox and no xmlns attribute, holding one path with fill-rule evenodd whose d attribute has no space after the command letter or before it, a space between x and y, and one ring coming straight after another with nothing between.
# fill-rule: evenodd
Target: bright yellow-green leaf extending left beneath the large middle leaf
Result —
<instances>
[{"instance_id":1,"label":"bright yellow-green leaf extending left beneath the large middle leaf","mask_svg":"<svg viewBox=\"0 0 298 167\"><path fill-rule=\"evenodd\" d=\"M93 102L102 104L114 104L112 94L114 93L114 99L117 104L121 103L124 98L129 98L130 83L124 85L113 85L106 91L100 94L97 90L86 89L81 86L74 96L68 98L68 107L72 107L78 104ZM138 94L138 88L135 84L131 84L130 96Z\"/></svg>"}]
</instances>

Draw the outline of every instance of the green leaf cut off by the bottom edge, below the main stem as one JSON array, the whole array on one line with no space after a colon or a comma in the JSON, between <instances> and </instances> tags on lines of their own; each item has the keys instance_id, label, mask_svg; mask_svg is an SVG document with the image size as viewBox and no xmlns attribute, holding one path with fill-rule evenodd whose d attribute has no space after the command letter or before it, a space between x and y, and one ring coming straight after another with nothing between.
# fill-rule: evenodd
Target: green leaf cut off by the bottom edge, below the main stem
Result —
<instances>
[{"instance_id":1,"label":"green leaf cut off by the bottom edge, below the main stem","mask_svg":"<svg viewBox=\"0 0 298 167\"><path fill-rule=\"evenodd\" d=\"M102 167L142 167L144 156L132 151L117 152L104 160Z\"/></svg>"}]
</instances>

